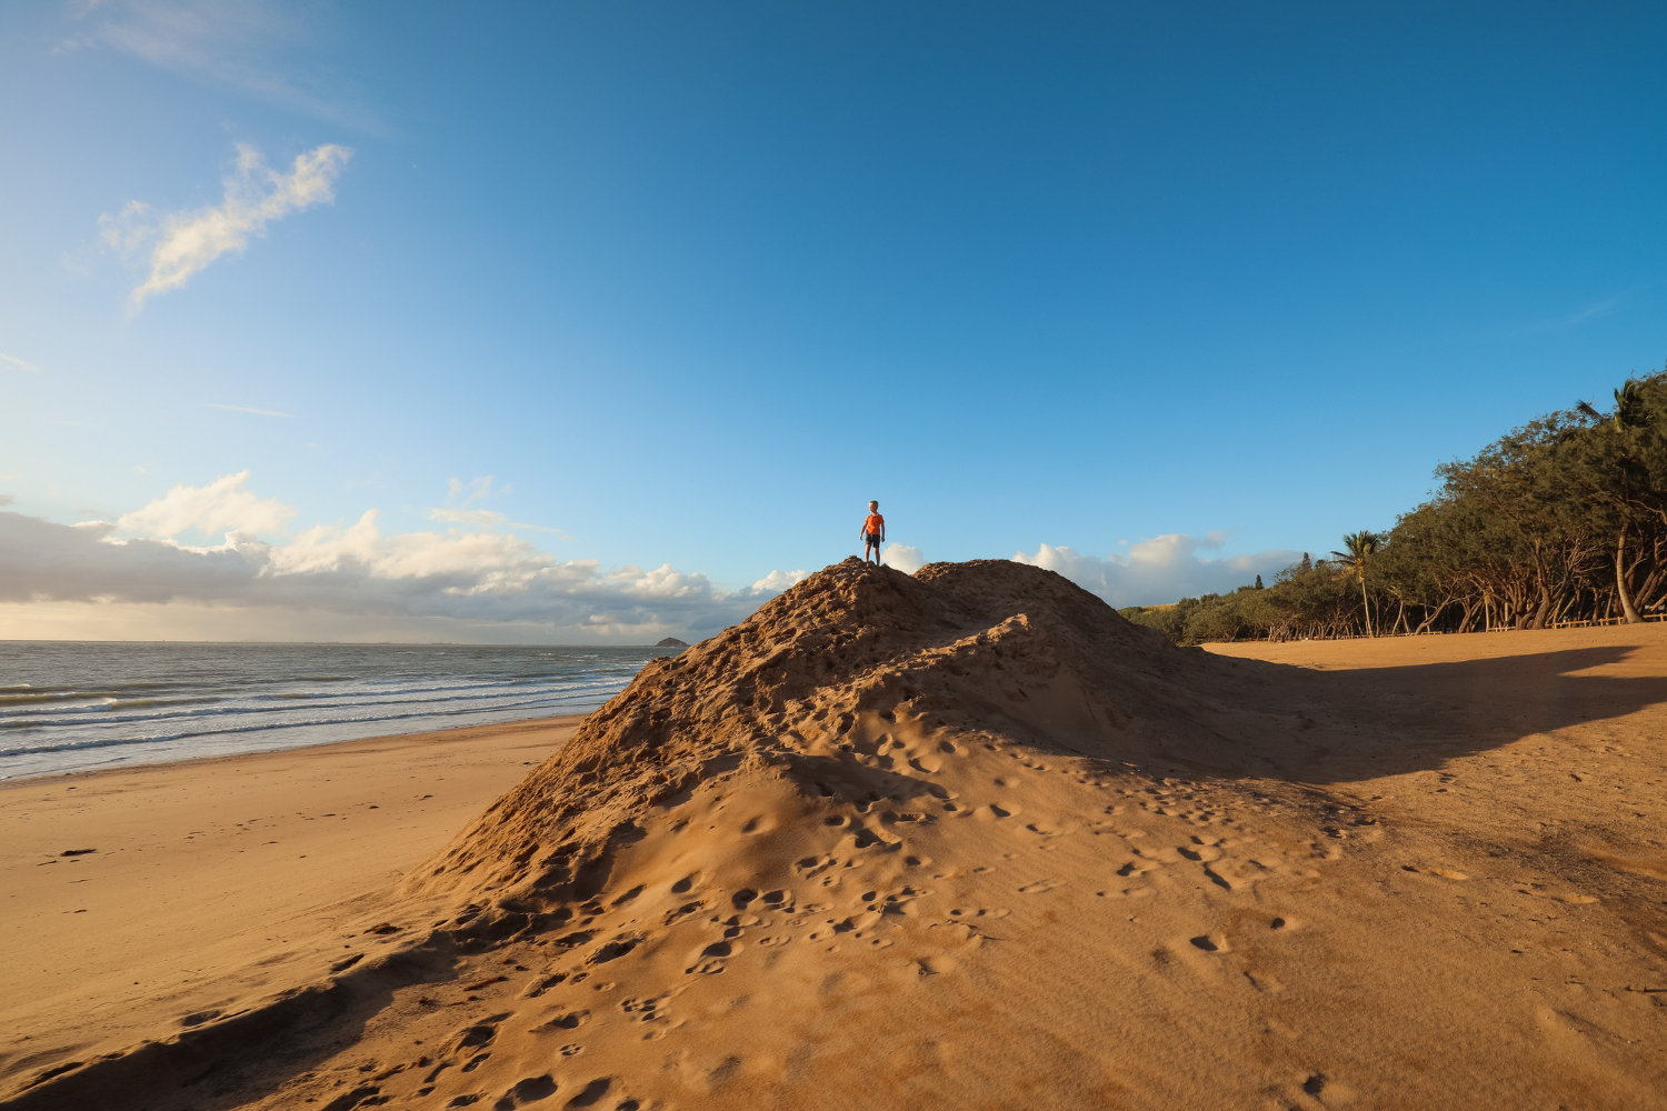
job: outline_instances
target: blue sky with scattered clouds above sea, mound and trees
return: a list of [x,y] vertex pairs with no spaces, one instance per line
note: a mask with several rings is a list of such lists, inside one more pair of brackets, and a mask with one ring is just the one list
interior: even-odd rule
[[0,638],[1114,605],[1667,360],[1659,3],[0,5]]

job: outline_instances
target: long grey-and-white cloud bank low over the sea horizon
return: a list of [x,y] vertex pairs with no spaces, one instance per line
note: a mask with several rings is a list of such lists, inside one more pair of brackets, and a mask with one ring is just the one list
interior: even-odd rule
[[[173,486],[115,523],[58,525],[0,511],[0,605],[78,603],[88,618],[135,605],[233,608],[257,638],[278,625],[305,635],[295,618],[307,611],[328,628],[363,618],[357,635],[365,640],[400,630],[402,640],[652,643],[733,625],[805,576],[772,571],[727,591],[670,565],[557,560],[505,530],[390,533],[373,508],[350,525],[280,536],[295,516],[293,506],[248,490],[248,471]],[[182,540],[192,533],[223,538]],[[283,621],[275,620],[280,611]]]

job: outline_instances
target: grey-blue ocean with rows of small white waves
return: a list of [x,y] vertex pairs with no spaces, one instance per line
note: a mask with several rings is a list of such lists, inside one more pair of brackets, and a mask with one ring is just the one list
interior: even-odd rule
[[582,713],[673,651],[0,641],[0,780]]

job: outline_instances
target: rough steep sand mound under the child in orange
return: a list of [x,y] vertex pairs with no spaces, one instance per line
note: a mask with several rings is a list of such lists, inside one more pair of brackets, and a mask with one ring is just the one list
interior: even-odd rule
[[648,816],[733,771],[855,803],[930,793],[922,773],[984,738],[1220,761],[1230,745],[1209,720],[1224,686],[1237,686],[1227,663],[1052,571],[980,560],[909,576],[850,558],[652,661],[415,888],[478,893],[455,928],[538,929],[608,883],[613,849]]

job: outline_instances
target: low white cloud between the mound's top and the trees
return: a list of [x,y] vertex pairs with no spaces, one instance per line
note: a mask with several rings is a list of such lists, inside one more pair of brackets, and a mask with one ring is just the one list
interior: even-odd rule
[[1272,580],[1275,571],[1300,558],[1297,551],[1205,555],[1225,548],[1227,540],[1224,531],[1205,536],[1169,533],[1105,558],[1042,545],[1034,556],[1020,551],[1014,561],[1059,571],[1114,606],[1149,606],[1247,586],[1257,575]]

